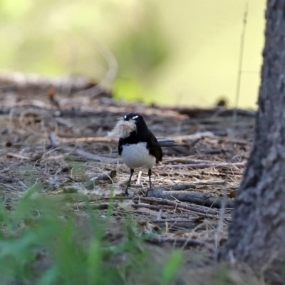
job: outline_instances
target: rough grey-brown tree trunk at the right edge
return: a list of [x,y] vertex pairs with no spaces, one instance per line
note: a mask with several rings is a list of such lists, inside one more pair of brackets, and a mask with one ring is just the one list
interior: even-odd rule
[[285,284],[285,1],[268,0],[255,140],[227,253]]

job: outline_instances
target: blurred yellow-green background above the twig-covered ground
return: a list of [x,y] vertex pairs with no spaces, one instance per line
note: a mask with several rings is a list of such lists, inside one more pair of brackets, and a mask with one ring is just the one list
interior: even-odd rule
[[[116,98],[234,105],[244,0],[0,0],[0,69],[84,74]],[[255,108],[265,0],[250,0],[239,107]],[[112,54],[118,74],[105,81]]]

